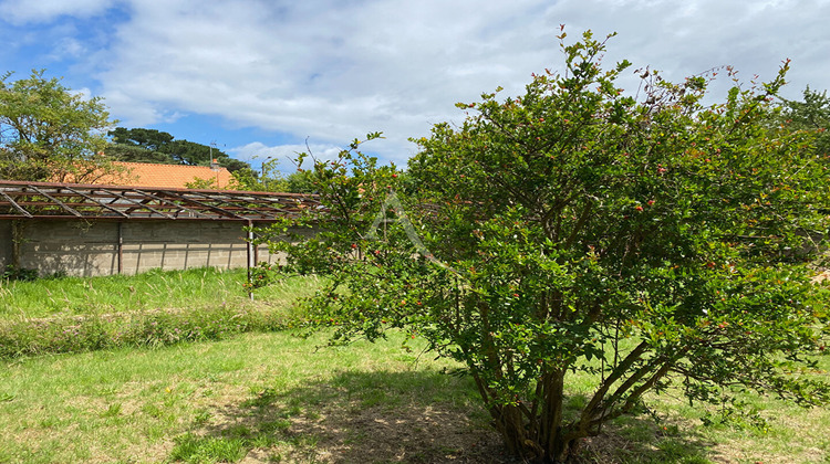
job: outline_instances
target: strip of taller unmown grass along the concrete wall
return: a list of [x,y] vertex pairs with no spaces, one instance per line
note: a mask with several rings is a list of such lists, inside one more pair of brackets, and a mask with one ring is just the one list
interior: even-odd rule
[[317,288],[314,278],[293,278],[255,291],[251,302],[242,289],[245,280],[245,271],[199,268],[6,282],[0,288],[0,358],[279,330],[295,319],[291,302]]

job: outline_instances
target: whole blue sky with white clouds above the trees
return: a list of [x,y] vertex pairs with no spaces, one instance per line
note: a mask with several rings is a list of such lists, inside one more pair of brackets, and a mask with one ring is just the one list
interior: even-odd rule
[[[0,0],[0,75],[45,70],[104,98],[118,126],[211,145],[257,168],[311,149],[405,166],[409,138],[460,124],[455,104],[561,70],[573,43],[612,32],[604,62],[671,81],[724,65],[744,85],[790,59],[784,96],[830,87],[830,0]],[[726,84],[713,87],[717,99]],[[723,96],[723,95],[720,95]]]

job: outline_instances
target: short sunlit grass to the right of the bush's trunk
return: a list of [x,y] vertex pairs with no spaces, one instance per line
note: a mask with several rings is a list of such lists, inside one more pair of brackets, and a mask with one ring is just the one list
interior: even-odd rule
[[[830,356],[801,373],[830,382]],[[598,379],[570,377],[569,402],[581,408]],[[741,409],[694,402],[678,388],[646,394],[637,414],[613,421],[590,439],[594,463],[830,463],[830,410],[805,409],[774,396],[725,388]]]

